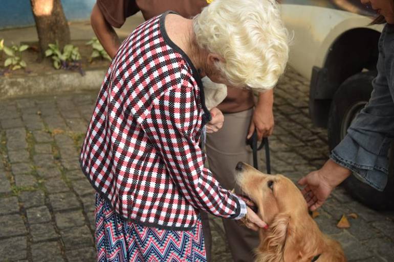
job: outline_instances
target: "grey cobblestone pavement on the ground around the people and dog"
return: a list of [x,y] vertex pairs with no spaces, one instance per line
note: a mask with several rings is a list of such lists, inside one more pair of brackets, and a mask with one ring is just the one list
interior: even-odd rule
[[[78,150],[97,92],[0,101],[0,260],[94,261],[94,190]],[[272,167],[294,181],[328,157],[326,130],[308,117],[308,82],[289,69],[275,90]],[[394,261],[394,213],[376,212],[338,188],[316,218],[350,261]],[[336,223],[355,212],[349,229]],[[220,219],[213,258],[231,261]]]

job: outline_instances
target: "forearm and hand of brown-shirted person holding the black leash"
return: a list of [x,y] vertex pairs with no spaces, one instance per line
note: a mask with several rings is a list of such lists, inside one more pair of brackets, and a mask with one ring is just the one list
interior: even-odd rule
[[274,104],[273,89],[258,94],[258,101],[253,111],[253,117],[249,126],[247,138],[249,139],[254,130],[257,130],[257,138],[270,136],[274,130]]

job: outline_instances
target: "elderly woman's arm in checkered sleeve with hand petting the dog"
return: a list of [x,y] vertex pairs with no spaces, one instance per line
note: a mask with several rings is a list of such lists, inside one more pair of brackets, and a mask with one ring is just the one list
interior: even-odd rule
[[[197,110],[194,88],[182,82],[164,91],[151,104],[150,114],[141,122],[142,128],[161,154],[174,184],[194,208],[223,218],[241,219],[246,212],[249,218],[256,218],[245,201],[221,187],[204,167],[205,154],[199,141],[193,138]],[[266,225],[259,219],[254,222],[260,227]]]

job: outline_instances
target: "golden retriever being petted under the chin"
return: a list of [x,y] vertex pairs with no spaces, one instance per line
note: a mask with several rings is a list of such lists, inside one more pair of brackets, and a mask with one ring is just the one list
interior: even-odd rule
[[320,231],[290,179],[263,174],[243,162],[235,169],[237,184],[268,224],[259,231],[256,262],[346,262],[340,244]]

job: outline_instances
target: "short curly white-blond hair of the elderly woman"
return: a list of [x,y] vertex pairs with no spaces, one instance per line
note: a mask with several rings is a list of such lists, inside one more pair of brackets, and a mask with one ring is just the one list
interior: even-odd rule
[[271,89],[289,57],[275,0],[214,0],[193,18],[196,42],[224,58],[216,66],[236,87]]

